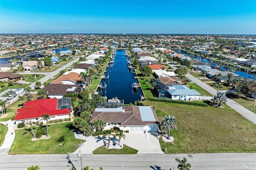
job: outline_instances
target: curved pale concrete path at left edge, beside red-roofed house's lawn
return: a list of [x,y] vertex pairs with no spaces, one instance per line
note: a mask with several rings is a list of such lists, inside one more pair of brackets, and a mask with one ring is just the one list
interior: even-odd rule
[[14,122],[15,121],[6,121],[6,122],[0,122],[4,125],[8,124],[8,131],[5,135],[4,138],[4,143],[2,144],[2,146],[0,147],[0,155],[1,154],[8,154],[10,151],[10,148],[12,146],[12,143],[14,141],[15,138],[15,131],[14,131]]

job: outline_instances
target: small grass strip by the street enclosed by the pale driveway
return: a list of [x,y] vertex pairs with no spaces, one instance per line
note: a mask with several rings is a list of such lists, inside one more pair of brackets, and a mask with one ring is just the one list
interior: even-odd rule
[[93,154],[137,154],[138,150],[124,144],[122,149],[107,149],[106,146],[100,146],[95,149]]

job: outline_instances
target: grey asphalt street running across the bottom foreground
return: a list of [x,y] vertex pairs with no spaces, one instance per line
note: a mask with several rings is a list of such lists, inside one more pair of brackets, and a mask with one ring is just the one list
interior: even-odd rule
[[[45,155],[0,155],[0,170],[26,170],[38,165],[40,170],[70,170],[72,164],[81,169],[80,158],[70,154]],[[175,158],[185,156],[192,170],[256,170],[256,154],[220,153],[220,154],[130,154],[130,155],[82,155],[83,167],[94,170],[173,170],[178,163]]]

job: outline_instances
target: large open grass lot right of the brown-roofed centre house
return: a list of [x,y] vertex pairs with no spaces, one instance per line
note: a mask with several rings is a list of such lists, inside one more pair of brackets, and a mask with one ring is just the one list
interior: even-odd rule
[[176,117],[177,131],[172,131],[174,144],[160,139],[167,153],[256,152],[256,125],[224,105],[200,107],[143,101],[154,106],[158,119],[164,115]]

